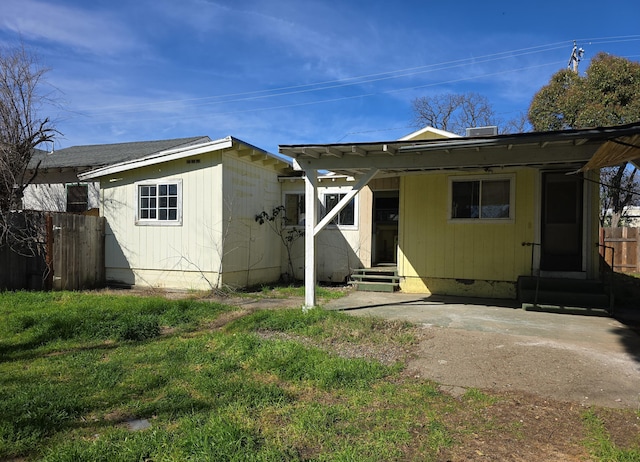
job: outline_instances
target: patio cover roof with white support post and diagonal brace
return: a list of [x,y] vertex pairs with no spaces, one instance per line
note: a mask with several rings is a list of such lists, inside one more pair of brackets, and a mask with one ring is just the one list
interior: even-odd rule
[[[305,173],[305,308],[316,305],[315,236],[371,179],[434,170],[567,166],[581,170],[640,162],[640,123],[616,127],[531,132],[428,141],[280,145]],[[319,224],[318,171],[359,180]]]

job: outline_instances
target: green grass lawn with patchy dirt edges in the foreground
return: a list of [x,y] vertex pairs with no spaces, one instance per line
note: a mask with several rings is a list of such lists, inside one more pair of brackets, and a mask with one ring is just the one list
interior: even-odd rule
[[[0,319],[0,460],[499,460],[479,441],[530,438],[507,398],[366,354],[410,350],[409,324],[68,292],[0,293]],[[637,411],[572,412],[570,454],[640,460],[608,426]]]

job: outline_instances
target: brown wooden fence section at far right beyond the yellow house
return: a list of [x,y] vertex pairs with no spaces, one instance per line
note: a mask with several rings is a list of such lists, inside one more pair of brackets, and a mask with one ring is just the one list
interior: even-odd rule
[[600,255],[614,271],[640,273],[640,228],[601,228]]

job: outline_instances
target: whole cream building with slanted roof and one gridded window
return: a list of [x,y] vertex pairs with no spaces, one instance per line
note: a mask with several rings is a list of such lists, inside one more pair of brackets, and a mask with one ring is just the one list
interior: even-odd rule
[[234,137],[78,175],[99,182],[109,284],[210,290],[277,281],[279,237],[256,214],[280,204],[282,158]]

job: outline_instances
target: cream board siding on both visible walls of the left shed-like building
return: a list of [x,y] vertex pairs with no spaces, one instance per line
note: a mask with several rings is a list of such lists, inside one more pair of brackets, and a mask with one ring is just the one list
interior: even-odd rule
[[[106,245],[111,252],[108,280],[211,289],[222,283],[278,279],[277,236],[255,222],[256,214],[279,203],[276,172],[229,153],[205,153],[198,159],[199,163],[179,159],[124,172],[113,183],[103,179],[103,210],[109,223]],[[142,180],[182,181],[181,225],[136,225],[136,182]],[[227,272],[231,282],[222,276]]]

